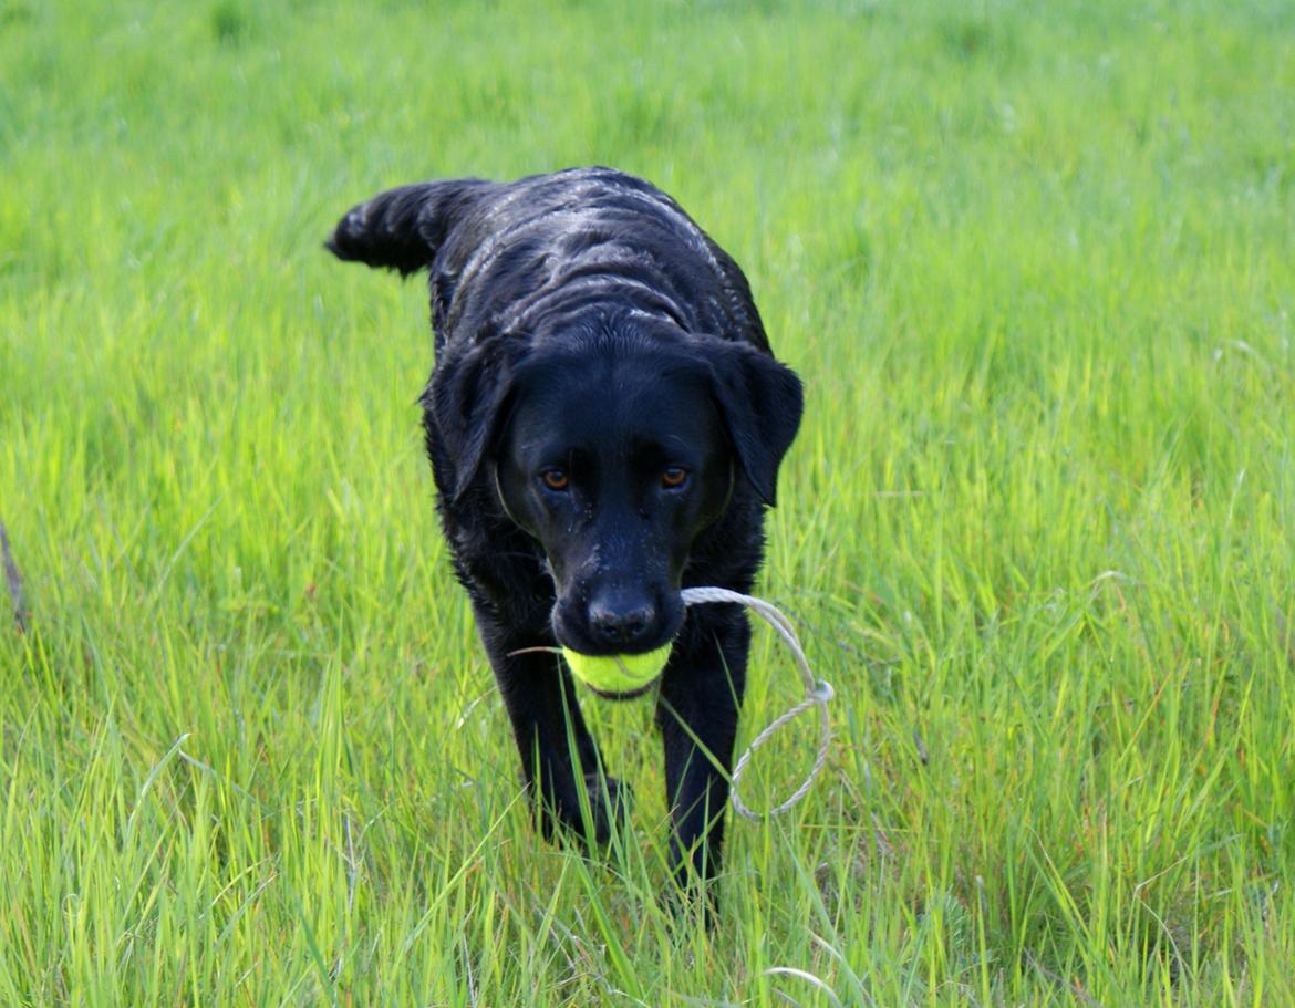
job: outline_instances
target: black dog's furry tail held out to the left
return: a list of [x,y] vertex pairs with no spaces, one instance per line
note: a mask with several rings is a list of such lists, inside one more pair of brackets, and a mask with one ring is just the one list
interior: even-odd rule
[[431,265],[449,229],[493,188],[451,179],[388,189],[347,212],[325,247],[338,259],[409,276]]

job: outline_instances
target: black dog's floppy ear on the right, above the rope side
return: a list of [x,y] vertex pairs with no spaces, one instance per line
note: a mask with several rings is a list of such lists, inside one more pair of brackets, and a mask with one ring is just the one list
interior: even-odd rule
[[712,386],[746,477],[771,507],[778,463],[800,427],[804,395],[795,371],[746,343],[723,343],[711,364]]

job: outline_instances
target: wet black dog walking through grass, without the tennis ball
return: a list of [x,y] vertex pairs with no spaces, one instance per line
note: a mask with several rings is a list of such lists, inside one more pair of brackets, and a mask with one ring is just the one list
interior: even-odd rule
[[438,507],[545,835],[556,818],[603,841],[622,802],[563,661],[514,652],[673,638],[657,701],[671,850],[680,882],[712,877],[750,626],[737,606],[685,619],[679,591],[751,590],[802,409],[742,270],[675,201],[609,168],[392,189],[328,247],[430,269]]

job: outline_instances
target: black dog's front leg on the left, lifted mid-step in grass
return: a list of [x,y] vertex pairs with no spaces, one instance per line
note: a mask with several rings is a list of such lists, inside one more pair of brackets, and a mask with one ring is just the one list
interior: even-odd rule
[[[624,814],[628,796],[602,772],[598,747],[580,716],[570,672],[557,655],[510,653],[535,646],[534,637],[522,643],[483,620],[480,612],[478,626],[513,722],[513,738],[541,832],[549,838],[558,824],[584,840],[607,842],[611,822]],[[591,816],[588,822],[583,806]]]

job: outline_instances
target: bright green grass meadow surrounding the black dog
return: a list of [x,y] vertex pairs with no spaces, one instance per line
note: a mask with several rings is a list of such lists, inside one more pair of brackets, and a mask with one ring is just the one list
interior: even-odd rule
[[[0,0],[0,1003],[1295,1004],[1292,137],[1285,0]],[[632,828],[532,832],[425,289],[321,250],[587,163],[808,392],[761,594],[835,744],[710,936],[649,704],[585,705]]]

